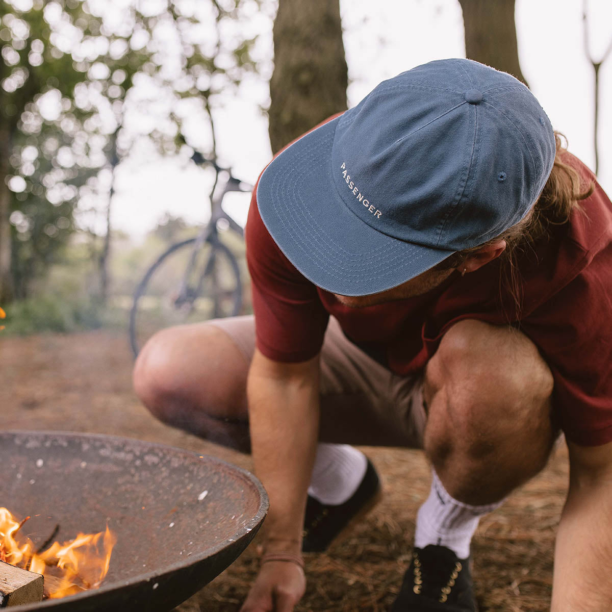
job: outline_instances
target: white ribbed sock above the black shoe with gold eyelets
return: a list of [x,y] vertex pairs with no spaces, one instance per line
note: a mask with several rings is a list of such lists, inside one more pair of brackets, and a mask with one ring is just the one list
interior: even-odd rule
[[425,548],[428,544],[446,546],[460,559],[469,556],[469,544],[482,515],[501,506],[503,501],[487,506],[469,506],[453,499],[438,474],[432,469],[431,491],[417,513],[414,545]]

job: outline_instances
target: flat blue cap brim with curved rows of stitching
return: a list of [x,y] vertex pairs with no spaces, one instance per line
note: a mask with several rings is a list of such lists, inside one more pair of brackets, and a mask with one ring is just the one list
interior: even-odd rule
[[331,293],[365,296],[405,283],[453,251],[400,241],[351,212],[331,176],[339,119],[271,162],[259,179],[257,203],[267,230],[301,274]]

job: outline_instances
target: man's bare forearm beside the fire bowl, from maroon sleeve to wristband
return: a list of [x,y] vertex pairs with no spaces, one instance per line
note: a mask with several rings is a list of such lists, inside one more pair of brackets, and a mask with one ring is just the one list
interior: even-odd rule
[[318,439],[318,359],[276,364],[256,352],[247,396],[255,472],[270,498],[266,547],[299,553]]

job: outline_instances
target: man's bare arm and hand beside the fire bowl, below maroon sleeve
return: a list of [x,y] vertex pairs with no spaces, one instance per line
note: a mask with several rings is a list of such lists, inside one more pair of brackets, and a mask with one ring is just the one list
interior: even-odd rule
[[[319,359],[282,364],[255,351],[247,381],[255,473],[270,498],[264,553],[301,555],[308,484],[319,430]],[[243,612],[291,612],[304,594],[304,572],[287,561],[261,571]]]

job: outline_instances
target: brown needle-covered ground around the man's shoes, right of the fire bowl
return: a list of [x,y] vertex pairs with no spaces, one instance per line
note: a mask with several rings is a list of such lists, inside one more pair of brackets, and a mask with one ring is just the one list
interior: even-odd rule
[[[385,497],[349,539],[327,554],[307,556],[308,590],[299,612],[384,612],[398,592],[416,510],[428,493],[428,469],[414,451],[364,450],[383,474]],[[540,476],[480,521],[472,556],[483,612],[550,609],[554,535],[566,482],[567,456],[559,447]],[[256,568],[250,547],[177,611],[238,610]]]

